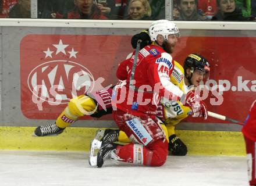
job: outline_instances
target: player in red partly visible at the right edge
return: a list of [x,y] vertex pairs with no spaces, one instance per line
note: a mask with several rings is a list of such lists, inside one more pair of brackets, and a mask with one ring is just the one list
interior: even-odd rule
[[256,100],[253,102],[253,105],[251,105],[251,109],[246,121],[244,122],[242,132],[244,134],[244,140],[246,141],[249,183],[250,185],[256,185]]

